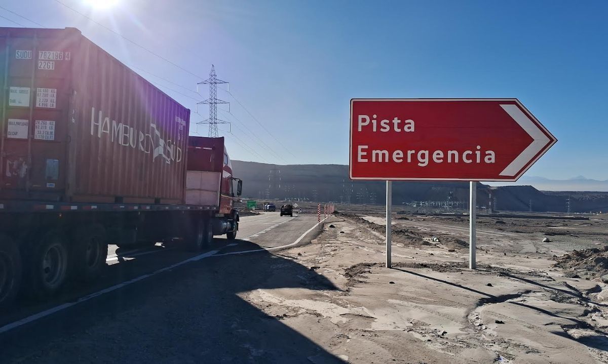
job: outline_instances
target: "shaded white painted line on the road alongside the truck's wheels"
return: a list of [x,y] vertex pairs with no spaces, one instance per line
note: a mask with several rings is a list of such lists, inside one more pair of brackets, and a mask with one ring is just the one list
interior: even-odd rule
[[40,318],[43,318],[43,317],[55,314],[55,312],[63,311],[64,309],[66,309],[68,307],[72,307],[72,306],[75,306],[75,305],[77,305],[79,303],[86,302],[86,301],[91,300],[92,298],[98,297],[100,295],[107,294],[107,293],[112,292],[114,290],[120,289],[122,287],[128,286],[128,285],[133,284],[133,283],[136,283],[138,281],[145,280],[146,278],[150,278],[151,276],[157,275],[159,273],[166,272],[167,270],[171,270],[171,269],[173,269],[175,267],[182,266],[182,265],[184,265],[186,263],[190,263],[192,261],[198,261],[200,259],[207,258],[208,256],[212,256],[212,255],[214,255],[217,252],[219,252],[219,250],[211,250],[210,252],[206,252],[206,253],[199,254],[197,256],[193,256],[190,259],[186,259],[185,261],[181,261],[179,263],[171,264],[171,266],[164,267],[164,268],[161,268],[159,270],[155,270],[152,273],[148,273],[148,274],[145,274],[145,275],[142,275],[142,276],[138,276],[136,278],[133,278],[132,280],[128,280],[128,281],[125,281],[123,283],[119,283],[119,284],[116,284],[114,286],[108,287],[106,289],[102,289],[102,290],[99,290],[99,291],[94,292],[92,294],[86,295],[84,297],[80,297],[80,298],[78,298],[78,300],[76,300],[74,302],[64,303],[64,304],[61,304],[60,306],[52,307],[50,309],[47,309],[46,311],[38,312],[37,314],[33,314],[33,315],[29,316],[29,317],[22,318],[21,320],[18,320],[18,321],[15,321],[13,323],[9,323],[7,325],[2,326],[0,328],[0,334],[2,334],[4,332],[7,332],[7,331],[10,331],[12,329],[18,328],[19,326],[26,325],[27,323],[30,323],[32,321],[36,321],[36,320],[38,320]]

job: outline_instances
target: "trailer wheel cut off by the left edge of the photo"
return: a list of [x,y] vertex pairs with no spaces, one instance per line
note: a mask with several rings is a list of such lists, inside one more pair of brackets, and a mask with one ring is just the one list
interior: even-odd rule
[[21,284],[21,255],[15,242],[0,234],[0,312],[15,300]]

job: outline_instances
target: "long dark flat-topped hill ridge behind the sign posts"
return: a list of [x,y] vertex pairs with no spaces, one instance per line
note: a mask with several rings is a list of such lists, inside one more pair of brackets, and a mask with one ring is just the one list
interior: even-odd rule
[[[385,203],[384,181],[351,181],[347,165],[274,165],[232,160],[236,177],[243,179],[243,196],[257,199],[308,199],[364,204]],[[393,204],[413,201],[468,201],[468,182],[393,182]],[[542,192],[530,185],[490,187],[479,184],[477,204],[496,199],[497,210],[565,212],[608,211],[608,193]]]

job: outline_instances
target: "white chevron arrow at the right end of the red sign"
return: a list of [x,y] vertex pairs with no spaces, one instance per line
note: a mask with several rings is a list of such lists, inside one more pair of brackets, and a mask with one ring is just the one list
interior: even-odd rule
[[532,143],[530,143],[527,148],[523,149],[523,152],[500,172],[500,176],[515,176],[517,172],[522,170],[526,163],[530,162],[530,160],[547,145],[550,139],[532,122],[532,120],[530,120],[528,115],[524,114],[521,109],[517,107],[517,105],[500,105],[500,107],[502,107],[533,139]]

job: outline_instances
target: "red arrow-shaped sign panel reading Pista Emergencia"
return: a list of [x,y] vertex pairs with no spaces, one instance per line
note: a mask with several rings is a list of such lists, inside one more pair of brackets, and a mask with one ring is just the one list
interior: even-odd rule
[[350,102],[350,178],[517,180],[557,139],[516,98]]

